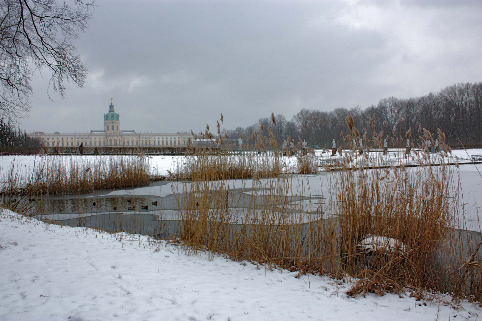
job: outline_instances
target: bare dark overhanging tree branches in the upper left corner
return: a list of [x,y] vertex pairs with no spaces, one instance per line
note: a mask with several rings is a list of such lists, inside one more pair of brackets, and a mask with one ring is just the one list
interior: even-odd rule
[[30,80],[47,68],[62,98],[64,82],[83,87],[87,69],[72,41],[87,28],[94,1],[0,0],[0,114],[23,117],[30,110]]

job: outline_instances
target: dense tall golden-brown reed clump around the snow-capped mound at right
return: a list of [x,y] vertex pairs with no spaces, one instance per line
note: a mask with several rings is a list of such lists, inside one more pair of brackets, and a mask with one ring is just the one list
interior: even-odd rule
[[[360,279],[350,293],[379,294],[387,286],[396,292],[406,285],[447,290],[438,255],[455,225],[451,169],[350,168],[336,174],[340,265]],[[404,244],[404,250],[383,244],[367,253],[360,243],[369,235]]]

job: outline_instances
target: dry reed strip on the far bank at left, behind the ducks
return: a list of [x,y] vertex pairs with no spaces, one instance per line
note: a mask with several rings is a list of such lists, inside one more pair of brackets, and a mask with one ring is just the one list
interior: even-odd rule
[[2,195],[91,193],[149,182],[148,161],[136,156],[78,157],[44,156],[33,167],[15,165],[1,173]]

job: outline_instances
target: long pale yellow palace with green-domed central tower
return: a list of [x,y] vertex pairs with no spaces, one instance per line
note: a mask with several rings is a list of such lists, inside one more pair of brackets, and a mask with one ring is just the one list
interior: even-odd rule
[[40,138],[41,144],[45,147],[186,147],[189,134],[142,134],[134,130],[120,129],[120,116],[114,111],[112,99],[110,100],[109,112],[104,114],[104,129],[91,130],[88,134],[61,134],[56,131],[53,134],[45,134],[36,131],[30,134],[32,137]]

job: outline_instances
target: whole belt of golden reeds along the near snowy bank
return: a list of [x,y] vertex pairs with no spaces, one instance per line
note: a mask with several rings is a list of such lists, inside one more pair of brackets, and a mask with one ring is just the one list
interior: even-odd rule
[[[305,194],[293,190],[294,177],[261,180],[269,187],[266,195],[260,198],[253,192],[249,201],[241,201],[229,182],[235,175],[208,181],[214,176],[203,174],[178,193],[181,239],[190,248],[237,260],[300,273],[349,275],[358,280],[348,292],[351,295],[409,288],[480,302],[482,241],[477,245],[470,233],[457,229],[464,226],[458,221],[462,216],[459,183],[454,180],[457,167],[445,165],[443,157],[440,164],[430,161],[433,154],[425,141],[433,140],[433,135],[427,130],[421,130],[418,139],[420,156],[427,162],[418,167],[405,168],[402,161],[398,166],[385,163],[383,156],[368,157],[368,150],[360,158],[356,148],[349,148],[351,141],[360,139],[358,130],[350,128],[345,141],[354,152],[340,157],[337,170],[330,172],[323,212],[293,210],[289,203]],[[374,131],[375,144],[380,138],[383,133]],[[438,139],[440,153],[447,155],[450,151],[440,131]],[[302,160],[298,164],[303,168]],[[210,166],[202,162],[197,166],[202,172],[206,165]]]

